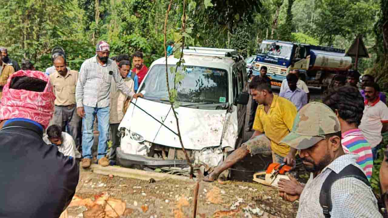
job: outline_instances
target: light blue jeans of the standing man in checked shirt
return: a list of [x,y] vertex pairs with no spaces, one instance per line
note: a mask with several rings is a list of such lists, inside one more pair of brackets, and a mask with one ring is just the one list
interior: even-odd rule
[[85,110],[85,116],[83,121],[83,134],[82,134],[82,156],[83,158],[92,159],[92,146],[94,143],[93,124],[94,117],[97,114],[98,130],[100,135],[98,137],[98,149],[97,159],[106,156],[106,147],[109,137],[109,111],[108,107],[88,107],[83,106]]

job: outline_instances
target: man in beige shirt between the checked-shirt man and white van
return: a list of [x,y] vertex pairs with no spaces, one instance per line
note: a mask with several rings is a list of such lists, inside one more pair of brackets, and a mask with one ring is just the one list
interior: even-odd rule
[[[131,92],[134,92],[134,81],[132,78],[128,78],[128,73],[131,69],[130,61],[120,61],[119,65],[120,76],[124,80],[124,84],[129,88]],[[120,145],[120,137],[117,136],[118,128],[121,120],[124,118],[124,105],[125,101],[130,98],[121,92],[116,87],[116,82],[112,78],[111,93],[110,93],[110,116],[109,116],[109,127],[112,133],[112,147],[109,152],[109,165],[116,164],[116,148]]]

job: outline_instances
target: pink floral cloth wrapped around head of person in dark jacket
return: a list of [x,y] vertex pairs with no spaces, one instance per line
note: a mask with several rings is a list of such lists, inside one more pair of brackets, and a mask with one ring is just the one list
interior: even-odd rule
[[[12,78],[29,76],[47,82],[43,92],[18,90],[9,88]],[[55,95],[52,92],[50,78],[40,71],[17,71],[12,74],[3,87],[0,103],[0,121],[12,118],[26,118],[40,123],[47,128],[54,113]]]

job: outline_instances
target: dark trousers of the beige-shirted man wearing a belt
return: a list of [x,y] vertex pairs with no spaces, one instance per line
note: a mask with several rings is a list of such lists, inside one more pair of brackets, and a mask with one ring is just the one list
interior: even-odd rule
[[81,152],[81,122],[82,119],[77,114],[77,107],[72,106],[56,106],[54,116],[50,121],[50,125],[58,125],[62,131],[66,131],[73,137],[76,149]]

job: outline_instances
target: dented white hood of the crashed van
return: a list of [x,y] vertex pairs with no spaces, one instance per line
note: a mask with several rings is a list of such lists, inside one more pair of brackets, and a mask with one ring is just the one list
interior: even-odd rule
[[[170,104],[140,98],[133,102],[177,133],[177,125]],[[232,113],[226,113],[226,110],[176,108],[184,147],[201,150],[204,147],[220,145],[223,125],[226,123],[222,147],[234,149],[238,129],[236,110],[234,108]],[[149,142],[181,148],[178,136],[144,111],[130,104],[119,128],[125,127],[134,131]],[[225,116],[227,116],[226,119]]]

